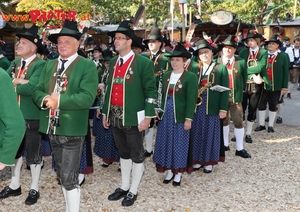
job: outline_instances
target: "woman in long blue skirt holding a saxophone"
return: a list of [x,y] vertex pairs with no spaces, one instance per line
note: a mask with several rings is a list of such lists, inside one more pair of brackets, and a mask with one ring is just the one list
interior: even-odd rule
[[225,161],[222,122],[226,117],[229,89],[212,90],[220,85],[229,87],[228,72],[223,64],[213,62],[213,51],[206,40],[200,40],[197,48],[199,56],[198,102],[191,129],[193,143],[193,167],[204,173],[211,173],[213,165]]

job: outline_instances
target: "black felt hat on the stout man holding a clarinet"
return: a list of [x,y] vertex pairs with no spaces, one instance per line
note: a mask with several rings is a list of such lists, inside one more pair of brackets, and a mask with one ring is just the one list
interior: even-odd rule
[[57,43],[57,38],[59,36],[70,36],[75,38],[76,40],[79,40],[81,37],[81,33],[78,30],[77,22],[66,20],[60,32],[49,35],[48,39],[52,43]]

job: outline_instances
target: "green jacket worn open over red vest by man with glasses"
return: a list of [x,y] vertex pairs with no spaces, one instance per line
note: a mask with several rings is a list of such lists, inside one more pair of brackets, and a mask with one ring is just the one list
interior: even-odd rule
[[[111,108],[112,82],[118,56],[110,60],[103,114],[108,121]],[[145,110],[145,117],[155,117],[155,103],[146,99],[157,99],[153,62],[144,56],[134,54],[123,78],[123,125],[138,126],[137,112]]]

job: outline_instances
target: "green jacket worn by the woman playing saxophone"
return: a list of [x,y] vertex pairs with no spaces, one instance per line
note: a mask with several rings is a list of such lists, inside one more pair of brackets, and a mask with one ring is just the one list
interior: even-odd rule
[[[203,69],[197,73],[198,86],[201,83]],[[228,71],[223,64],[215,63],[214,68],[208,73],[208,82],[212,82],[212,86],[221,85],[229,87]],[[206,107],[207,115],[218,115],[220,111],[227,112],[229,91],[218,92],[212,91],[210,88],[207,91],[207,103],[206,105],[201,104],[198,107]]]

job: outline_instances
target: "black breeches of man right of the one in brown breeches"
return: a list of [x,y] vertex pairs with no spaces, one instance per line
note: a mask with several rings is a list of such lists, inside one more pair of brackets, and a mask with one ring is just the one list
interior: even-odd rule
[[253,122],[256,119],[256,110],[261,98],[263,84],[247,83],[243,92],[243,114],[248,106],[247,120]]

